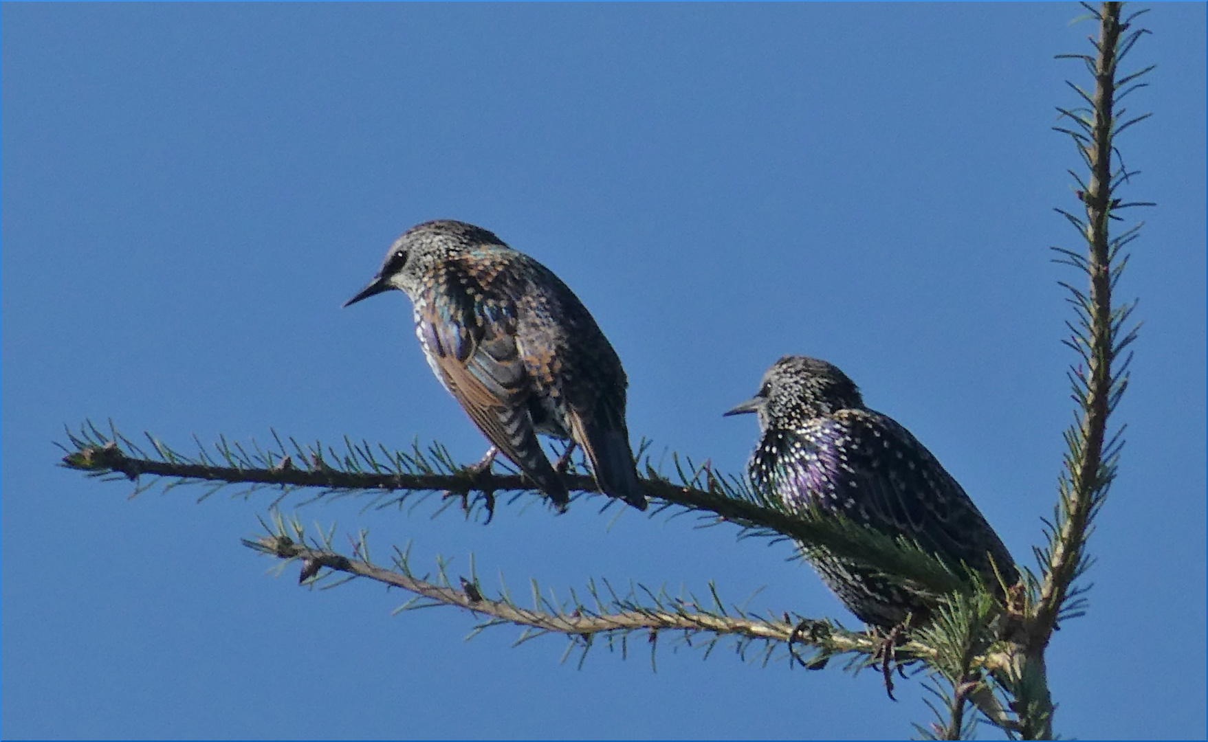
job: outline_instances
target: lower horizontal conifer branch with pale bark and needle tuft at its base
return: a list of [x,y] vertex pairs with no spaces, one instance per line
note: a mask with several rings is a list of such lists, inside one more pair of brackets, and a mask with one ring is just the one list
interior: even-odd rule
[[[486,629],[510,625],[523,629],[517,644],[540,636],[561,635],[570,641],[563,659],[577,648],[581,652],[580,664],[602,642],[610,649],[627,653],[628,639],[635,632],[645,639],[654,661],[660,637],[669,632],[675,637],[674,645],[702,649],[705,656],[719,642],[731,639],[742,659],[749,659],[753,644],[761,644],[763,649],[759,654],[765,665],[776,659],[788,659],[790,665],[820,670],[832,658],[850,655],[852,660],[846,666],[849,671],[882,664],[887,671],[892,667],[890,661],[884,660],[885,638],[877,632],[849,631],[826,619],[788,613],[761,618],[742,607],[727,606],[712,584],[707,600],[693,595],[684,600],[641,585],[631,588],[628,595],[621,596],[606,580],[603,589],[591,582],[586,590],[590,600],[580,600],[579,594],[571,590],[569,600],[559,602],[547,598],[534,582],[534,607],[524,608],[512,600],[506,588],[488,597],[478,582],[472,557],[469,577],[455,578],[451,576],[449,562],[439,559],[439,574],[434,580],[416,574],[411,567],[410,549],[395,549],[393,568],[376,565],[370,559],[364,531],[353,541],[352,555],[345,555],[332,545],[335,528],[318,538],[308,537],[298,520],[286,521],[277,513],[273,525],[266,524],[266,536],[244,539],[244,545],[281,560],[281,569],[289,563],[301,562],[300,583],[318,585],[333,574],[371,579],[414,595],[397,612],[439,606],[463,608],[481,619],[474,626],[471,637]],[[999,614],[997,598],[976,585],[972,595],[953,594],[942,598],[939,625],[906,637],[892,650],[893,665],[922,661],[945,677],[960,678],[959,683],[953,683],[958,708],[954,731],[945,730],[943,738],[959,738],[972,730],[974,718],[963,720],[960,715],[966,703],[972,703],[987,721],[1009,735],[1017,726],[993,695],[995,687],[982,678],[982,671],[993,672],[999,661],[992,626]],[[786,652],[777,656],[777,648]],[[928,730],[923,731],[928,734]]]

